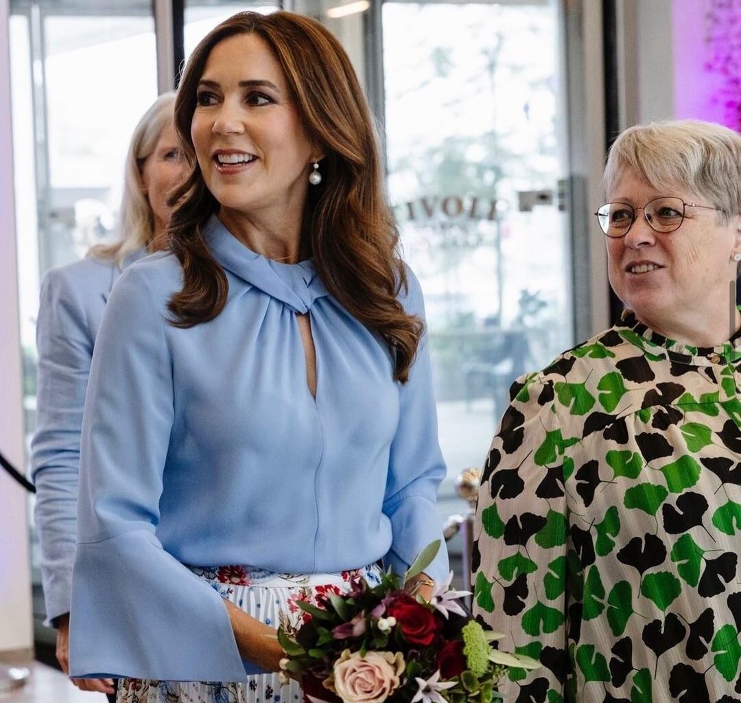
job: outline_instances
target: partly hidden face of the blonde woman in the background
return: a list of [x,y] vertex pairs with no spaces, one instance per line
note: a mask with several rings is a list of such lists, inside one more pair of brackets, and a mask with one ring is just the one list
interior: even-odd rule
[[165,230],[172,212],[167,194],[185,174],[187,162],[178,142],[175,128],[167,125],[159,135],[154,151],[144,159],[142,185],[154,214],[155,233]]

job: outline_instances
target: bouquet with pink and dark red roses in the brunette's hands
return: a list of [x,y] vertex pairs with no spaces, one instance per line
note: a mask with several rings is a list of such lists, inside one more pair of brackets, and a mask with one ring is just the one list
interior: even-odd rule
[[468,592],[451,590],[452,572],[430,601],[404,590],[439,546],[423,549],[403,578],[389,570],[374,587],[353,579],[319,607],[299,601],[309,617],[298,629],[278,630],[282,678],[300,676],[312,703],[491,703],[501,698],[496,683],[508,667],[538,667],[491,647],[500,636],[473,619]]

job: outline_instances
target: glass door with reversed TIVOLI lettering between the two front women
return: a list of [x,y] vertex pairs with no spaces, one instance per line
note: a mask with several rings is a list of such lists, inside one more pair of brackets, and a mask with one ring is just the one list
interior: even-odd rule
[[425,291],[441,519],[520,374],[572,343],[556,0],[382,4],[388,177]]

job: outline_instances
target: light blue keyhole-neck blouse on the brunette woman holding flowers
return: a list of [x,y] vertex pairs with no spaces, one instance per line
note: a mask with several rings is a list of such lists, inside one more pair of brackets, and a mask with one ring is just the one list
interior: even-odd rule
[[[213,217],[222,313],[179,329],[171,254],[124,272],[96,342],[82,432],[71,676],[243,681],[219,594],[183,564],[397,572],[442,537],[430,357],[393,381],[385,344],[310,261],[253,253]],[[409,272],[405,308],[423,315]],[[296,314],[310,314],[316,399]],[[448,571],[445,549],[428,568]]]

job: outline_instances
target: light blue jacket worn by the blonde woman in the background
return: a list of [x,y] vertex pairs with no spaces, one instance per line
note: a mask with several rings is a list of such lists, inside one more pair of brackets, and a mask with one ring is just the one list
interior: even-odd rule
[[31,470],[47,624],[70,612],[80,429],[93,346],[113,283],[144,254],[139,249],[123,266],[91,258],[76,261],[51,269],[41,284]]

